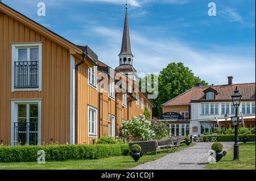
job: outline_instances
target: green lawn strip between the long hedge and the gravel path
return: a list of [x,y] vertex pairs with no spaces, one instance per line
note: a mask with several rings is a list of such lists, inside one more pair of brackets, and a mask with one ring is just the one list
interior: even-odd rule
[[[191,144],[189,146],[193,146]],[[181,148],[189,146],[182,144]],[[65,162],[46,162],[46,164],[33,163],[0,163],[0,170],[125,170],[131,169],[142,163],[154,161],[155,159],[170,154],[161,152],[158,154],[146,154],[141,157],[139,162],[134,162],[130,156],[109,157],[104,159],[65,161]]]

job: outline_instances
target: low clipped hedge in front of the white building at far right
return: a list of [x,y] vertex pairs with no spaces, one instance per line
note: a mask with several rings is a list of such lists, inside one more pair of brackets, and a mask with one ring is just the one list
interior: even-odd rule
[[[213,135],[203,136],[204,141],[210,140]],[[234,134],[218,134],[217,141],[234,141]],[[242,134],[239,135],[239,141],[242,141]],[[247,134],[247,141],[255,141],[255,134]]]

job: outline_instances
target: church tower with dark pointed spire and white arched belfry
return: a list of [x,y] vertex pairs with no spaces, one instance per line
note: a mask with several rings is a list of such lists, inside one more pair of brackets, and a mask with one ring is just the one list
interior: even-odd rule
[[120,73],[126,74],[128,77],[136,80],[138,78],[137,71],[133,67],[133,53],[131,53],[131,41],[129,31],[129,20],[127,14],[125,14],[125,26],[123,27],[123,40],[121,52],[119,53],[119,66],[115,69]]

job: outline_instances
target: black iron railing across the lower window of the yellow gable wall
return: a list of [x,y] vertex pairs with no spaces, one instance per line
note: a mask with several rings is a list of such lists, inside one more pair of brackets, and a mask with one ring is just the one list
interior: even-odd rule
[[14,123],[14,145],[37,145],[38,123]]

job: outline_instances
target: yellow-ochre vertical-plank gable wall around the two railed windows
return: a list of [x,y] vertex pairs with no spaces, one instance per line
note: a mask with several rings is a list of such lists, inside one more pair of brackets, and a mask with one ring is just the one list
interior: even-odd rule
[[[42,41],[42,91],[11,92],[11,43]],[[0,140],[11,144],[11,99],[42,99],[42,144],[69,142],[69,50],[0,15]]]

